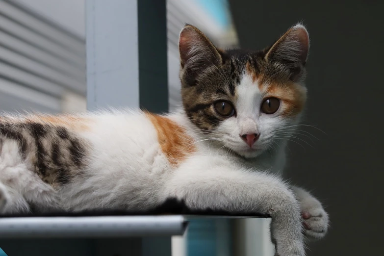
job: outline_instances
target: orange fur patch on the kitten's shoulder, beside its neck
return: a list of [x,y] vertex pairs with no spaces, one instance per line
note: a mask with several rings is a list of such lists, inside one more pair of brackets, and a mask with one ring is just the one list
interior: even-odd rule
[[172,166],[178,166],[188,155],[196,152],[193,139],[185,129],[168,117],[146,113],[157,132],[161,151]]

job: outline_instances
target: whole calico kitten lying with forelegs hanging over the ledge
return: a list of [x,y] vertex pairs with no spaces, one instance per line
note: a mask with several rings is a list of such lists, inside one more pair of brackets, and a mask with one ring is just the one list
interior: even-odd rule
[[304,256],[304,234],[324,237],[328,214],[277,173],[306,102],[308,50],[302,25],[262,51],[218,49],[185,25],[179,111],[1,116],[0,212],[145,210],[174,198],[270,214],[277,254]]

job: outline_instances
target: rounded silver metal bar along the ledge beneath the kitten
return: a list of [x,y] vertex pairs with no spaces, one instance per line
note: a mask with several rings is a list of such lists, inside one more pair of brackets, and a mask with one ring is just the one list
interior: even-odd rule
[[107,238],[182,235],[182,215],[6,217],[0,218],[1,238]]

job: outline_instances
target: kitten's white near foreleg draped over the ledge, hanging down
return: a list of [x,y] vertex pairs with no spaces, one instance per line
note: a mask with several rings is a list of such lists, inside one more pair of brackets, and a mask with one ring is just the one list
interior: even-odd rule
[[278,255],[305,255],[299,203],[275,176],[218,157],[194,157],[174,171],[162,192],[162,200],[177,198],[194,209],[269,213]]

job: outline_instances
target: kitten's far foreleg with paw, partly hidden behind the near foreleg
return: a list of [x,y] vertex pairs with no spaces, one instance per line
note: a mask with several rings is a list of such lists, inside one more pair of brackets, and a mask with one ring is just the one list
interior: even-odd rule
[[293,191],[300,202],[307,237],[315,240],[323,238],[329,226],[327,212],[321,203],[306,190],[293,187]]

